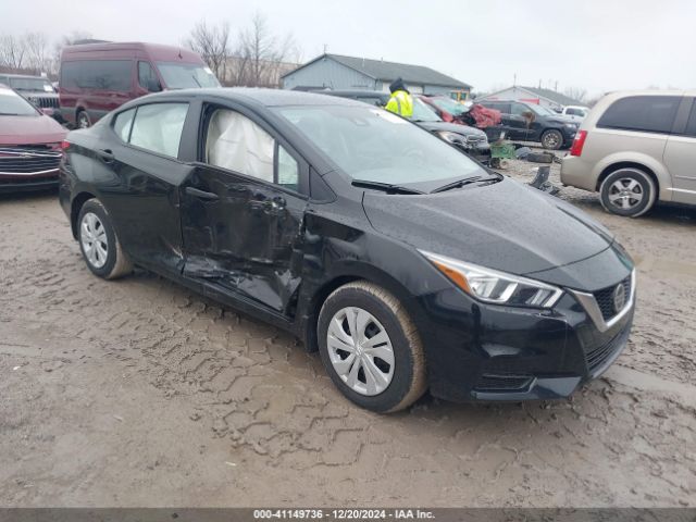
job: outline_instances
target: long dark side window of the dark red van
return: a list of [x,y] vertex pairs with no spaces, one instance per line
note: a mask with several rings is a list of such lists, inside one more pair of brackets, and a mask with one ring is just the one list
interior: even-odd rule
[[61,87],[127,92],[132,87],[130,60],[80,60],[61,64]]

